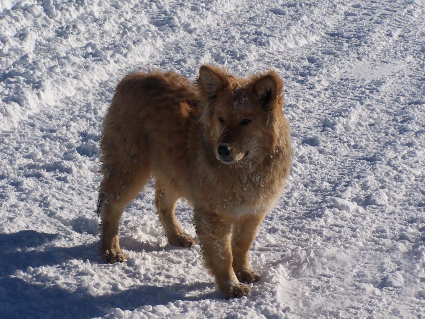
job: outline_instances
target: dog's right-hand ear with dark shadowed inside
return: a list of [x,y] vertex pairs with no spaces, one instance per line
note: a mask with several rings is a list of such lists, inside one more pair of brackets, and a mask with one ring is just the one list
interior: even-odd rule
[[283,81],[275,71],[255,76],[252,90],[266,110],[283,106]]

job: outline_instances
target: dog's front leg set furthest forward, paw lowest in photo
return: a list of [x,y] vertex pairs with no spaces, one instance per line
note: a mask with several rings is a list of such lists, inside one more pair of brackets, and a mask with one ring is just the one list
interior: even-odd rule
[[218,289],[227,299],[249,293],[251,289],[237,280],[232,267],[231,222],[202,208],[195,208],[194,219],[205,264],[214,275]]

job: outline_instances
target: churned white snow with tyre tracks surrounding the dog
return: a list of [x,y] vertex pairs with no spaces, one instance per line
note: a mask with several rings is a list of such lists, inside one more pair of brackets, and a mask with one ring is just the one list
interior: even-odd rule
[[[0,2],[0,317],[425,317],[425,1]],[[166,242],[151,184],[98,253],[98,139],[119,79],[201,63],[285,79],[293,170],[224,300]],[[192,210],[177,216],[190,233]]]

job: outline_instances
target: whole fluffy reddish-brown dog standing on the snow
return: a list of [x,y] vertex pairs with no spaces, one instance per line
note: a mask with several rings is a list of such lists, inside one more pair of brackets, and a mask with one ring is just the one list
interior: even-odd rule
[[101,252],[125,261],[118,223],[147,180],[172,245],[191,246],[175,218],[177,199],[194,206],[206,266],[226,298],[258,280],[248,251],[291,166],[283,82],[274,71],[238,78],[203,65],[193,85],[173,73],[133,73],[117,86],[103,123],[98,211]]

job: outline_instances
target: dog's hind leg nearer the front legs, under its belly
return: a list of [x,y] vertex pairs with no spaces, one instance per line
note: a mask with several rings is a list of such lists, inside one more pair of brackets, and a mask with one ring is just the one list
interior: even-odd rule
[[158,209],[159,220],[165,229],[168,243],[174,246],[190,247],[195,243],[192,236],[185,233],[175,217],[175,206],[178,197],[165,190],[156,181],[155,205]]

